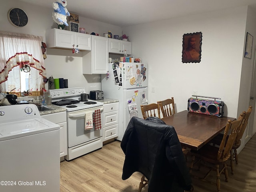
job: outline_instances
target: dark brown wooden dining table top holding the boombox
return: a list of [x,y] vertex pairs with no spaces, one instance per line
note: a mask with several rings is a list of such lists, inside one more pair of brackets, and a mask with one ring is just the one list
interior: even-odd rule
[[228,120],[234,121],[236,118],[216,117],[184,110],[161,120],[174,127],[182,146],[199,150],[224,131]]

